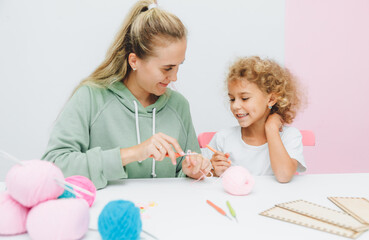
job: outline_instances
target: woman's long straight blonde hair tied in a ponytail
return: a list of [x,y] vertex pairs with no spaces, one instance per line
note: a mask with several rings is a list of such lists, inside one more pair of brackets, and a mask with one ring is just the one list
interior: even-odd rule
[[151,4],[156,1],[140,0],[132,7],[105,60],[82,80],[76,90],[82,85],[108,87],[124,80],[132,71],[128,64],[130,53],[145,59],[155,55],[155,46],[165,43],[163,40],[175,41],[187,36],[187,30],[177,16],[158,7],[149,9]]

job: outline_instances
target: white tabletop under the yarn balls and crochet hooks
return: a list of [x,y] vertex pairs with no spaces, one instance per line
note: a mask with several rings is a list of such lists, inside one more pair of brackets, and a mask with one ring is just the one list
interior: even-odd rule
[[[124,199],[143,205],[154,202],[144,212],[143,229],[160,240],[172,239],[347,239],[259,215],[275,204],[303,199],[340,210],[327,197],[365,197],[369,199],[369,173],[319,174],[295,176],[292,182],[278,183],[272,176],[255,177],[253,191],[247,196],[226,193],[217,178],[193,183],[191,179],[129,179],[111,182],[98,191],[91,208],[90,227],[97,226],[101,209],[111,200]],[[0,183],[0,191],[5,184]],[[223,217],[206,200],[228,214],[229,200],[238,223]],[[151,239],[141,235],[145,239]],[[368,239],[369,233],[358,239]],[[0,237],[0,239],[5,239]],[[27,234],[7,239],[29,239]],[[89,230],[84,239],[101,239]]]

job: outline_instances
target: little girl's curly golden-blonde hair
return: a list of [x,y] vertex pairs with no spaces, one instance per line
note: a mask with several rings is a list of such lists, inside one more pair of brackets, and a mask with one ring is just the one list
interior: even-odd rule
[[301,105],[297,81],[288,69],[273,60],[257,56],[238,59],[229,69],[226,84],[234,80],[255,83],[266,94],[277,98],[270,114],[279,114],[287,124],[292,123]]

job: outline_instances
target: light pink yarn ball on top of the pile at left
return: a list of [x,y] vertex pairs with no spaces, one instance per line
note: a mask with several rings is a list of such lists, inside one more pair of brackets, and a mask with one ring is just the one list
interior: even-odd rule
[[22,161],[13,166],[6,175],[6,186],[14,200],[25,207],[56,199],[64,189],[55,178],[64,180],[61,170],[53,163],[41,160]]

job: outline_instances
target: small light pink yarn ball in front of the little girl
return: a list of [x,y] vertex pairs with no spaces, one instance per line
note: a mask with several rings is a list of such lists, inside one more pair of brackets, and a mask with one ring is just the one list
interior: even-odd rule
[[223,173],[222,183],[226,192],[232,195],[247,195],[251,192],[255,180],[246,168],[232,166]]

